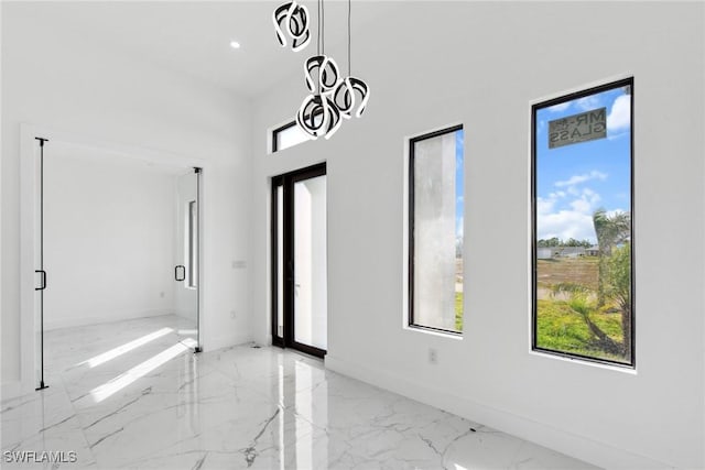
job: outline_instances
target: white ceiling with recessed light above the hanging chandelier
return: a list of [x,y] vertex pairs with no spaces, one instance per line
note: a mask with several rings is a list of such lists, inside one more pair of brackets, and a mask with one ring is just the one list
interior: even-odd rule
[[[25,14],[57,34],[78,35],[106,52],[120,51],[175,73],[236,91],[258,96],[282,78],[302,70],[316,51],[316,2],[311,12],[313,40],[299,53],[279,46],[272,22],[281,1],[229,2],[28,2]],[[326,47],[345,44],[347,1],[327,0]],[[370,21],[400,8],[393,1],[352,1],[354,37]],[[242,47],[234,50],[230,41]]]

